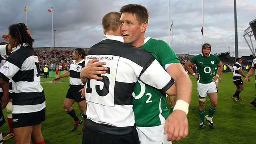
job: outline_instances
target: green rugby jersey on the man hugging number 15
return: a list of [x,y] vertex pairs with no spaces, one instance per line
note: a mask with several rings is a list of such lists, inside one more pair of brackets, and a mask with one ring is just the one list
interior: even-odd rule
[[[165,70],[169,66],[168,64],[180,63],[178,57],[166,42],[148,37],[144,40],[144,43],[140,48],[148,50]],[[133,110],[136,126],[151,127],[164,124],[169,115],[166,108],[165,93],[138,81],[134,87],[134,94]]]

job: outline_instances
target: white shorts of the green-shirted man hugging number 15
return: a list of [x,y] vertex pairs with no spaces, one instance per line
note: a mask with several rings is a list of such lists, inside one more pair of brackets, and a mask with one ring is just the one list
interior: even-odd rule
[[167,141],[168,134],[164,134],[164,125],[152,127],[136,126],[140,144],[172,144],[171,141]]

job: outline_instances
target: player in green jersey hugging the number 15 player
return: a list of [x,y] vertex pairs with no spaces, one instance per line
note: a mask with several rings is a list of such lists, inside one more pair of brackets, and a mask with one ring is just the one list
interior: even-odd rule
[[[170,143],[162,137],[163,133],[168,133],[168,140],[172,141],[185,138],[188,135],[187,113],[192,91],[191,80],[166,42],[144,36],[149,18],[148,10],[144,6],[128,4],[123,6],[120,12],[122,13],[120,24],[124,42],[148,50],[172,76],[177,85],[176,106],[174,107],[174,112],[168,116],[168,113],[166,113],[168,109],[166,108],[165,94],[142,82],[137,82],[134,90],[134,95],[136,95],[134,108],[136,108],[136,103],[139,104],[137,105],[139,107],[134,110],[134,114],[136,126],[137,128],[140,127],[138,131],[140,131],[141,144]],[[96,76],[96,74],[106,73],[107,68],[98,67],[105,63],[94,64],[94,62],[98,62],[98,60],[90,60],[81,75],[101,80],[102,78]],[[140,106],[140,104],[143,105]],[[148,120],[144,122],[145,118]]]

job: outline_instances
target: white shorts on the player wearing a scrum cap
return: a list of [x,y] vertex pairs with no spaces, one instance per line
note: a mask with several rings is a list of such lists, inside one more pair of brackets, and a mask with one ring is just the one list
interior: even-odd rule
[[197,96],[198,97],[206,97],[208,93],[217,92],[215,82],[211,82],[209,84],[201,84],[197,82]]

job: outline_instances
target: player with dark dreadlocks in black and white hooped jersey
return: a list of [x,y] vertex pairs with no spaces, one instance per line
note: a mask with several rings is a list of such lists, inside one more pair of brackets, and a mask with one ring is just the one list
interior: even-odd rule
[[[0,85],[12,78],[12,128],[15,144],[44,144],[41,122],[45,120],[45,96],[40,85],[38,57],[33,50],[34,39],[23,23],[8,27],[12,48],[6,63],[0,68]],[[6,87],[2,87],[3,91]],[[8,88],[7,88],[8,91]]]

